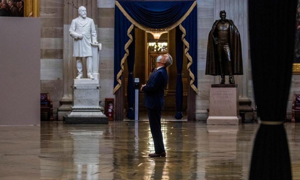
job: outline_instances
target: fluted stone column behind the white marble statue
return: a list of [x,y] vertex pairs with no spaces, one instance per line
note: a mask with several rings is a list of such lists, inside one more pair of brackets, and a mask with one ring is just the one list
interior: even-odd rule
[[[73,19],[78,17],[78,8],[87,8],[87,17],[94,20],[97,29],[97,0],[64,0],[63,9],[63,97],[58,108],[58,120],[63,120],[63,115],[69,114],[72,106],[72,84],[76,77],[76,59],[73,58],[73,38],[69,35]],[[85,60],[83,62],[85,63]],[[84,68],[85,69],[85,68]],[[83,71],[84,74],[86,74]]]

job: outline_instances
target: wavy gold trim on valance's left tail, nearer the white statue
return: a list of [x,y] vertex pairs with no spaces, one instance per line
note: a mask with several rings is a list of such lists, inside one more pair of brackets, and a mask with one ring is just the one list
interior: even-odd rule
[[117,81],[118,81],[118,84],[116,85],[115,88],[113,88],[113,93],[116,93],[116,91],[121,87],[122,85],[122,81],[120,79],[123,71],[124,71],[124,63],[125,63],[125,59],[127,58],[127,56],[129,55],[129,50],[128,50],[128,47],[129,45],[131,44],[131,42],[133,41],[133,37],[132,35],[130,34],[130,32],[133,30],[133,27],[134,25],[131,24],[131,26],[128,28],[127,30],[127,36],[129,37],[129,40],[128,42],[125,44],[125,54],[124,54],[124,57],[122,58],[121,60],[121,70],[119,71],[119,73],[117,74]]

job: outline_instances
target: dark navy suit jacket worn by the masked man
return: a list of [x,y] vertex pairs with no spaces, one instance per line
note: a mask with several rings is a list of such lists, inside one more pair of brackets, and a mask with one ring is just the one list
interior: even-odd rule
[[163,110],[164,90],[168,84],[168,73],[166,67],[159,68],[150,76],[146,86],[142,91],[145,92],[144,105],[147,108]]

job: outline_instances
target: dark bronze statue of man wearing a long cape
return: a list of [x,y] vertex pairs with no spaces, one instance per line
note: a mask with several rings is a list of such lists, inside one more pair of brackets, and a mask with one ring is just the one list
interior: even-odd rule
[[229,75],[229,83],[234,84],[233,75],[243,74],[240,34],[233,21],[226,19],[225,11],[220,12],[220,17],[208,35],[205,74],[221,75],[221,84]]

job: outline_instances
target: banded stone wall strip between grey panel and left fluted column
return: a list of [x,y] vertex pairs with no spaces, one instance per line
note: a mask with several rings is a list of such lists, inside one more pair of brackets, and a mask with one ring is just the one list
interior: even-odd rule
[[50,93],[54,119],[63,97],[63,0],[40,0],[41,93]]

